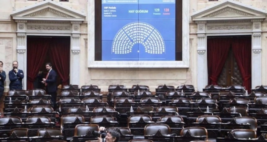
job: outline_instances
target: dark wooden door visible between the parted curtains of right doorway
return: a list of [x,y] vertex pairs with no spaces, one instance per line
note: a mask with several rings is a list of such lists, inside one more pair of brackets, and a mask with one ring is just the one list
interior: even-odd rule
[[217,84],[226,87],[233,84],[242,85],[242,83],[243,80],[239,71],[238,64],[234,57],[232,48],[230,48],[227,60],[224,64],[224,68],[222,69],[218,77]]

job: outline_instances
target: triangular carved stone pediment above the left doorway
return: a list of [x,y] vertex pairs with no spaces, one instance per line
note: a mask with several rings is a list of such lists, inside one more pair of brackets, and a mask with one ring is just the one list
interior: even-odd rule
[[46,0],[14,11],[11,16],[15,20],[51,20],[84,21],[85,15],[78,10]]

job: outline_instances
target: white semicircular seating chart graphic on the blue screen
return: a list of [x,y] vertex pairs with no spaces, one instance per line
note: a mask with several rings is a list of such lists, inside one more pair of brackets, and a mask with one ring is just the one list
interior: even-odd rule
[[121,28],[113,40],[112,52],[128,54],[132,52],[134,44],[142,44],[149,54],[165,52],[165,43],[160,32],[148,23],[129,23]]

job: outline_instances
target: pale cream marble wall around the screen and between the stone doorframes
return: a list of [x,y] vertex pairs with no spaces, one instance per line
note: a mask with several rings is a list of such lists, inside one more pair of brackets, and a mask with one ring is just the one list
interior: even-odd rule
[[[33,5],[37,1],[27,0],[1,0],[0,1],[0,60],[4,61],[4,70],[8,72],[12,69],[12,61],[17,59],[16,53],[16,23],[12,20],[10,14],[13,10]],[[59,0],[54,0],[59,2]],[[219,0],[222,1],[222,0]],[[266,0],[236,0],[265,10],[267,6]],[[193,12],[201,10],[216,2],[208,2],[208,0],[190,0],[189,1],[189,68],[88,68],[88,48],[93,48],[91,43],[94,39],[93,28],[88,28],[94,24],[93,0],[70,0],[70,2],[60,2],[64,6],[71,7],[75,10],[83,12],[87,15],[85,21],[80,26],[80,78],[79,85],[98,85],[107,91],[108,85],[126,84],[131,87],[134,84],[148,85],[152,91],[159,85],[167,84],[175,87],[180,84],[192,84],[197,88],[197,24],[190,17]],[[267,85],[266,71],[267,59],[267,20],[262,22],[262,84]],[[89,35],[89,36],[88,36]],[[4,55],[4,56],[2,56]],[[8,88],[9,80],[6,81]],[[198,88],[197,88],[198,89]],[[201,89],[200,89],[201,90]]]

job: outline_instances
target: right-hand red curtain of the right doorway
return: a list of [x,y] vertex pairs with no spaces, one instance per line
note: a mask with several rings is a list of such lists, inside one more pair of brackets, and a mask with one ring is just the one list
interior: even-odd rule
[[234,38],[233,54],[236,58],[243,84],[248,92],[251,91],[251,37]]

